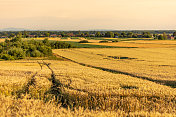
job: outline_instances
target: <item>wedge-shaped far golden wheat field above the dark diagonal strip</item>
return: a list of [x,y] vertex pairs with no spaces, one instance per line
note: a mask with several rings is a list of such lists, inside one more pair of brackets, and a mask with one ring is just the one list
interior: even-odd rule
[[[175,48],[65,49],[54,52],[87,65],[153,80],[175,80]],[[163,83],[162,81],[158,82]]]

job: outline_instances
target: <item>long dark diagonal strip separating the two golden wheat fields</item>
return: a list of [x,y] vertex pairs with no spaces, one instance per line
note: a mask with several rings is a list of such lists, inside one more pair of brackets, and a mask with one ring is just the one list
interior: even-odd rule
[[90,67],[90,68],[95,68],[95,69],[99,69],[99,70],[102,70],[102,71],[111,72],[111,73],[114,73],[114,74],[124,74],[124,75],[128,75],[128,76],[131,76],[131,77],[136,77],[136,78],[139,78],[139,79],[143,79],[143,80],[148,80],[148,81],[151,81],[151,82],[154,82],[154,83],[157,83],[157,84],[169,86],[171,88],[176,88],[176,81],[154,80],[154,79],[149,78],[149,77],[139,76],[139,75],[135,75],[135,74],[132,74],[132,73],[129,73],[129,72],[124,72],[124,71],[119,71],[119,70],[113,70],[113,69],[108,69],[108,68],[103,68],[103,67],[97,67],[97,66],[93,66],[93,65],[88,65],[88,64],[85,64],[85,63],[80,63],[80,62],[74,61],[72,59],[66,58],[66,57],[58,55],[58,54],[54,54],[54,55],[56,57],[62,58],[63,60],[71,61],[73,63],[79,64],[79,65],[82,65],[82,66],[86,66],[86,67]]

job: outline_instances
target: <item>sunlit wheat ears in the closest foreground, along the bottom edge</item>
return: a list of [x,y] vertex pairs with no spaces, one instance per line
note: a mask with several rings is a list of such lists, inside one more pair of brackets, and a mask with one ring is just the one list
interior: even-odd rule
[[90,111],[88,109],[75,109],[71,111],[56,106],[53,103],[44,103],[34,99],[13,99],[10,97],[0,96],[0,114],[2,117],[124,117],[124,116],[169,116],[174,117],[175,114],[157,113],[157,112],[130,112],[124,111]]

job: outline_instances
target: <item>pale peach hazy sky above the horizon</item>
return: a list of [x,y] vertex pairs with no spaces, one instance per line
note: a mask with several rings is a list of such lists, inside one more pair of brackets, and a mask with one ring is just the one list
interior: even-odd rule
[[175,30],[176,0],[0,0],[0,29]]

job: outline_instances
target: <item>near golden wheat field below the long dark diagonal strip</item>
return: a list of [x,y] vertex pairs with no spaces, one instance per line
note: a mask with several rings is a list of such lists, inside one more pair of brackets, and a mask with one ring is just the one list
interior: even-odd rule
[[70,61],[1,61],[0,74],[3,116],[175,114],[174,88]]

